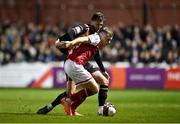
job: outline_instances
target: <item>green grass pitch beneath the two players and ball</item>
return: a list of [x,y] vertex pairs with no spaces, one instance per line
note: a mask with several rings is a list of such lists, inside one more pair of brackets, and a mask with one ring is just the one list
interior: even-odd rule
[[97,95],[79,107],[83,117],[68,117],[57,106],[47,115],[37,115],[39,107],[50,103],[58,89],[0,89],[0,122],[119,123],[180,122],[180,92],[164,90],[111,90],[108,101],[116,106],[113,117],[97,116]]

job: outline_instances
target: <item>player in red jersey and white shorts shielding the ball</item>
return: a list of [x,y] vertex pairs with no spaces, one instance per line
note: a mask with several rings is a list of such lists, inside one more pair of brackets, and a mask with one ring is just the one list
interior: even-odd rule
[[[67,75],[75,82],[77,91],[72,94],[70,101],[66,98],[61,100],[67,115],[73,115],[76,108],[88,96],[99,92],[98,83],[92,75],[84,68],[84,65],[98,52],[99,48],[110,43],[113,33],[104,27],[98,34],[79,37],[71,42],[59,43],[59,48],[70,48],[64,70]],[[103,110],[99,111],[102,114]]]

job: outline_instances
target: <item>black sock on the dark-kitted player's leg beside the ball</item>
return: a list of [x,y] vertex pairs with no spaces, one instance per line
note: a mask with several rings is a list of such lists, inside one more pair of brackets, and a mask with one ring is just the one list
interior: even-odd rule
[[98,94],[99,106],[103,106],[107,99],[108,86],[100,85],[100,90]]

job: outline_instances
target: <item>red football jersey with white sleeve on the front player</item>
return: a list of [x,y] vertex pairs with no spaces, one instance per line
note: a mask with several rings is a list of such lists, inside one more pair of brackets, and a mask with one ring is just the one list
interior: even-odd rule
[[99,50],[100,38],[97,34],[89,35],[90,44],[81,44],[74,48],[68,55],[68,59],[80,65],[85,65]]

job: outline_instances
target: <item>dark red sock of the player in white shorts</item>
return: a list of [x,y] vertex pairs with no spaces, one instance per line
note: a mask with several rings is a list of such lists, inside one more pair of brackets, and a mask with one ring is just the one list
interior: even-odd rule
[[72,100],[72,109],[75,110],[81,103],[84,102],[84,100],[88,97],[86,89],[83,89],[76,94],[73,94],[71,96]]

